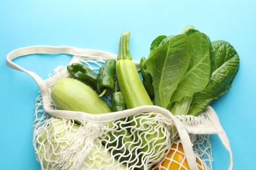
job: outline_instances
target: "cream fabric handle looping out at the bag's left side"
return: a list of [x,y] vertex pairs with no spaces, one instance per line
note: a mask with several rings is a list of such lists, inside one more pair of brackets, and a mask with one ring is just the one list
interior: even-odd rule
[[103,59],[116,58],[115,54],[111,54],[108,52],[91,50],[91,49],[80,49],[80,48],[75,48],[73,46],[29,46],[25,48],[18,48],[17,50],[13,50],[9,54],[7,54],[7,58],[6,58],[7,65],[12,69],[22,71],[32,76],[32,78],[37,83],[37,86],[39,86],[42,99],[43,99],[42,100],[43,109],[45,111],[51,110],[51,95],[49,93],[48,86],[50,84],[54,84],[54,82],[56,82],[59,78],[68,76],[69,73],[66,69],[63,69],[63,71],[61,71],[57,75],[51,78],[47,78],[46,80],[43,80],[35,72],[24,69],[23,67],[20,67],[20,65],[12,61],[14,58],[19,58],[19,57],[31,55],[31,54],[70,54],[70,55],[73,55],[73,58],[71,59],[69,64],[78,62],[79,59],[81,59],[81,56],[85,56],[89,58],[103,58]]

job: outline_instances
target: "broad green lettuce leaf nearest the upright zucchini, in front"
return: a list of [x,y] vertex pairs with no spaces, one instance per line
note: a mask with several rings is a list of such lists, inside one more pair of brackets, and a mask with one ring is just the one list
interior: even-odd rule
[[155,105],[165,109],[169,106],[190,64],[190,43],[188,36],[181,34],[150,51],[146,67],[153,78]]

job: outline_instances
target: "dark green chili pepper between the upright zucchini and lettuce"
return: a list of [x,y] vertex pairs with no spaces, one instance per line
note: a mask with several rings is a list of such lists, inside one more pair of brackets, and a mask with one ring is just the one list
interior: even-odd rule
[[154,97],[153,79],[150,73],[148,73],[148,69],[146,68],[146,58],[144,57],[140,59],[140,71],[146,92],[148,92],[148,95],[150,95],[150,97]]

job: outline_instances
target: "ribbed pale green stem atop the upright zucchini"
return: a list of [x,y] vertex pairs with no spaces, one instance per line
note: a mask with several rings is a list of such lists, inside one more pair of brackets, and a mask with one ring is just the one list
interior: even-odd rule
[[120,42],[119,42],[119,52],[117,56],[117,60],[119,59],[132,59],[130,50],[129,50],[129,37],[130,31],[125,31],[121,34]]

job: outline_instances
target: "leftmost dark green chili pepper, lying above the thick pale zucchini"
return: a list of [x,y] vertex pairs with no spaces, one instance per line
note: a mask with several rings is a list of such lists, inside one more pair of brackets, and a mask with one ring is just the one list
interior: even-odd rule
[[72,65],[68,65],[67,69],[75,78],[96,88],[97,73],[89,69],[86,65],[82,63],[72,63]]

